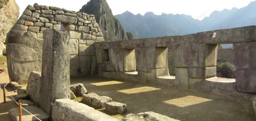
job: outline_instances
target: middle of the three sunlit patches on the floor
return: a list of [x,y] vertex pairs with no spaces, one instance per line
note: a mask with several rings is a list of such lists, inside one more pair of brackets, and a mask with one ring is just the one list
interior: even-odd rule
[[119,90],[119,92],[127,93],[127,94],[133,94],[133,93],[140,93],[140,92],[146,92],[146,91],[156,91],[161,90],[159,88],[153,88],[153,87],[140,87],[140,88],[132,88],[127,90]]

